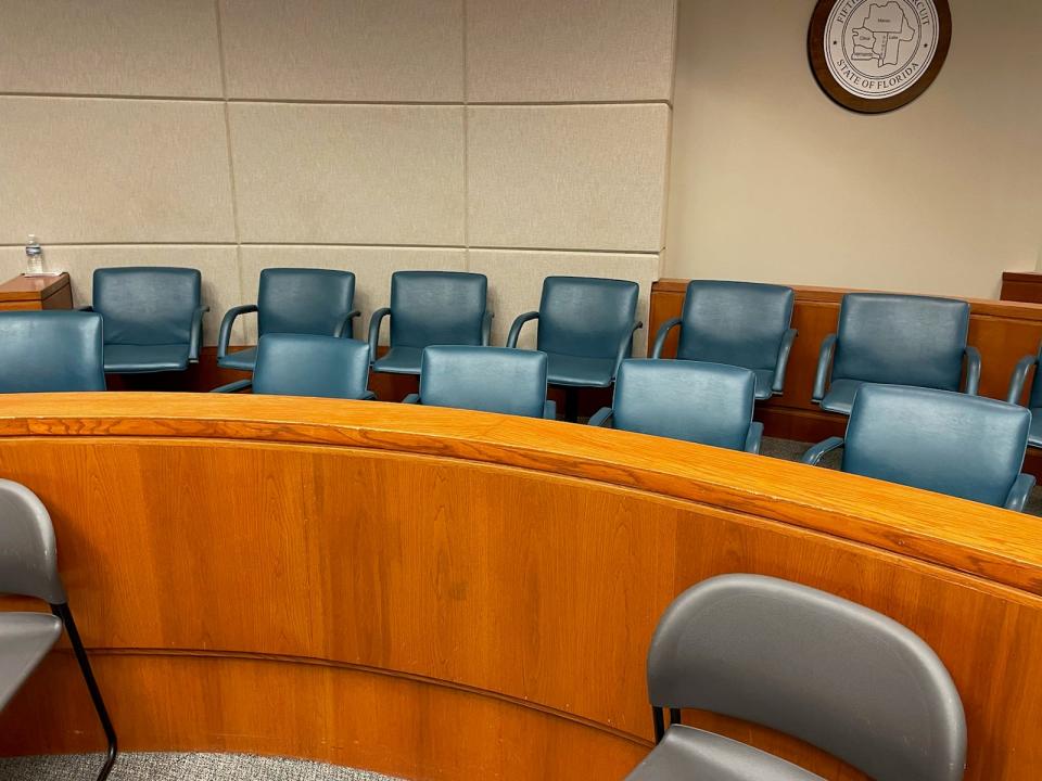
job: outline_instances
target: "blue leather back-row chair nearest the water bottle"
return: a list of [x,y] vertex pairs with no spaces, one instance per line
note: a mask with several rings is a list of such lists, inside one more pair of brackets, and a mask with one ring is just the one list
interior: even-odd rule
[[185,371],[203,341],[202,274],[195,269],[94,270],[93,309],[104,318],[105,371]]

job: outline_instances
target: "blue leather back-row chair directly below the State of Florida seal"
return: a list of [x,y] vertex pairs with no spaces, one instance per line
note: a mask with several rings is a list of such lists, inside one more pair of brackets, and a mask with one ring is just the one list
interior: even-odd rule
[[839,334],[822,342],[812,398],[823,410],[850,414],[864,383],[958,390],[964,358],[965,392],[975,396],[980,354],[966,345],[968,331],[966,302],[848,293],[839,308]]

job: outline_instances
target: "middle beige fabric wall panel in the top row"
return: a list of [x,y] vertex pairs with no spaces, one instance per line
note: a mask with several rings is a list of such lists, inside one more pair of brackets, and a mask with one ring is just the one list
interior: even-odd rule
[[229,98],[463,99],[462,0],[220,0]]

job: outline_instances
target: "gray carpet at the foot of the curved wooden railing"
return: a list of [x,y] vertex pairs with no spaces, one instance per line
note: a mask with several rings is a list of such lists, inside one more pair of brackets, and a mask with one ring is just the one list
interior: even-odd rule
[[[92,781],[96,754],[0,759],[3,781]],[[120,754],[109,781],[395,781],[390,776],[247,754]]]

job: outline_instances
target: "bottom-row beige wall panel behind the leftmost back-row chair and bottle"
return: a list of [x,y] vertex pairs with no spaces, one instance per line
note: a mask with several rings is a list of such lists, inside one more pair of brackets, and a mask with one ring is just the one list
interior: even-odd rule
[[[203,341],[217,344],[217,330],[225,311],[241,303],[239,264],[233,246],[202,245],[43,245],[49,270],[68,271],[73,285],[73,305],[90,304],[94,269],[114,266],[176,266],[199,269],[203,276],[203,304],[209,307],[203,320]],[[0,274],[10,279],[24,270],[23,247],[0,248]],[[2,280],[0,280],[2,281]],[[241,334],[240,334],[241,336]]]

